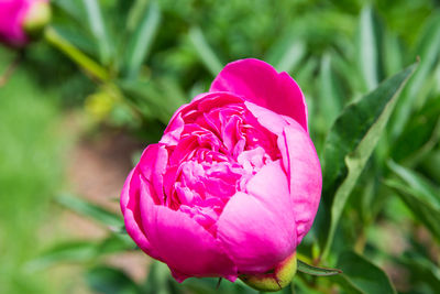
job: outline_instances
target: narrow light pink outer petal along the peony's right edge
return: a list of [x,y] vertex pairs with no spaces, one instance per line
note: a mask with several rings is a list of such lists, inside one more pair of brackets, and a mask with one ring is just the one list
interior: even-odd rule
[[284,140],[278,140],[278,144],[284,141],[287,149],[290,194],[299,243],[310,230],[318,210],[322,173],[314,143],[299,124],[285,127],[283,138]]

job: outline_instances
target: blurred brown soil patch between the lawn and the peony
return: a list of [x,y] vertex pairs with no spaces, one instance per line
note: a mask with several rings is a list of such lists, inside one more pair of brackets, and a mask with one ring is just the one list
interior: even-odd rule
[[[66,119],[66,128],[76,134],[72,150],[66,155],[66,178],[68,190],[78,197],[117,214],[120,213],[119,196],[125,177],[133,167],[132,156],[145,144],[123,130],[99,127],[90,131],[82,126],[82,118],[75,115]],[[100,224],[72,211],[63,211],[61,227],[70,238],[101,239],[109,229]],[[110,254],[105,263],[125,271],[135,281],[146,275],[150,260],[141,251]]]

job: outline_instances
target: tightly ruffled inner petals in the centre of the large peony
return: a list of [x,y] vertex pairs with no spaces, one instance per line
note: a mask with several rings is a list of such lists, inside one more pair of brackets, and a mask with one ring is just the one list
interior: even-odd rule
[[241,104],[188,111],[176,146],[169,148],[165,177],[173,177],[166,205],[180,210],[213,236],[217,220],[237,192],[265,164],[280,157],[276,137]]

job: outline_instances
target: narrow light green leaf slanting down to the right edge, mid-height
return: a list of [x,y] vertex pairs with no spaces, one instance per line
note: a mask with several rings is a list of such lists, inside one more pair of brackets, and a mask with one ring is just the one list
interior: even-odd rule
[[435,209],[440,209],[440,189],[421,174],[406,168],[393,161],[388,161],[389,168],[396,173],[405,183],[417,192],[420,199],[432,205]]

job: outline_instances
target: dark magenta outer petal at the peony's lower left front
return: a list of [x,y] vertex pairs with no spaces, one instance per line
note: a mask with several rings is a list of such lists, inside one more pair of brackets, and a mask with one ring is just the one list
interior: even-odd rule
[[141,215],[143,228],[160,259],[178,282],[189,276],[223,276],[234,281],[238,272],[220,241],[187,215],[154,205],[143,183]]

